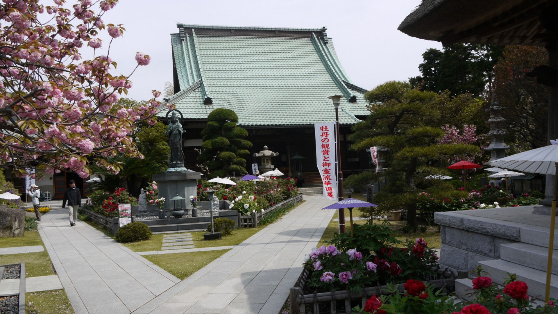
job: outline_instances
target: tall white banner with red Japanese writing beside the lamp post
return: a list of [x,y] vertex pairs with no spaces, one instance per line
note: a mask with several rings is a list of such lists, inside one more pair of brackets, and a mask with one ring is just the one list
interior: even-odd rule
[[324,198],[337,201],[335,123],[314,123],[314,132],[316,134],[316,164],[324,184]]

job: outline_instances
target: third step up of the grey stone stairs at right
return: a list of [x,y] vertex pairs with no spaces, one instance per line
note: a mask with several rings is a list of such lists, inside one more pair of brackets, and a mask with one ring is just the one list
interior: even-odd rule
[[[500,258],[546,272],[549,249],[522,242],[501,244]],[[558,275],[558,250],[552,253],[552,274]]]

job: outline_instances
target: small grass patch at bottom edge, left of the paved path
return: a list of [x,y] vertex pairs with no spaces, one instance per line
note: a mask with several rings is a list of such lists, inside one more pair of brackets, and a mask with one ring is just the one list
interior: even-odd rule
[[74,313],[64,289],[25,294],[25,313],[58,314]]

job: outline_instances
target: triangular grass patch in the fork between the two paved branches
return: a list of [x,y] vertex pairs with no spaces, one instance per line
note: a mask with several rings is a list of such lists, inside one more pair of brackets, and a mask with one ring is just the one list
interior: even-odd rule
[[179,279],[184,279],[197,272],[211,261],[227,253],[228,250],[215,250],[193,253],[173,253],[143,255],[144,258],[153,264],[165,269]]

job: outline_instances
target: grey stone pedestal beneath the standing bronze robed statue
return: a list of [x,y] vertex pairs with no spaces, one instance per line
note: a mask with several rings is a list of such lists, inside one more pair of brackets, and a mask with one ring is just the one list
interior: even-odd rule
[[167,170],[165,173],[153,174],[153,180],[157,182],[159,197],[165,198],[163,210],[172,211],[174,209],[174,204],[172,203],[173,201],[170,199],[175,197],[176,194],[185,198],[184,201],[182,201],[184,202],[184,204],[182,204],[183,209],[189,210],[192,208],[189,201],[190,195],[196,195],[196,184],[197,180],[200,178],[200,173],[192,170],[170,172]]

